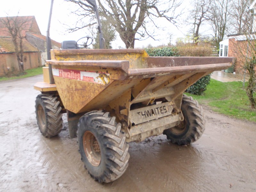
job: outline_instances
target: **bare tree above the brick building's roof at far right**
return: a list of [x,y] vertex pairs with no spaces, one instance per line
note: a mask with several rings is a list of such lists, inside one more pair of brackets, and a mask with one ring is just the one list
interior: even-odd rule
[[250,23],[249,6],[252,4],[252,0],[232,0],[232,9],[230,15],[232,17],[232,26],[234,32],[237,34],[243,34],[247,30],[247,24]]

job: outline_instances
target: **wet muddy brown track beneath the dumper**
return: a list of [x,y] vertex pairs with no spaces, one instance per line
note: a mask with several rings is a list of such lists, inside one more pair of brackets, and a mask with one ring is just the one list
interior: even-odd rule
[[[188,147],[164,135],[130,143],[129,167],[100,184],[84,169],[67,119],[44,138],[33,84],[42,76],[0,82],[0,191],[256,191],[256,124],[205,109],[203,136]],[[64,116],[65,117],[65,116]]]

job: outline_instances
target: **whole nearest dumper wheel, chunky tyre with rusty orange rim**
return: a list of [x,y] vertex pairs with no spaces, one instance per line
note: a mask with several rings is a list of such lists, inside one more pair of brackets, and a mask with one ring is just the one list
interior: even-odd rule
[[86,113],[79,120],[77,139],[81,160],[95,180],[108,183],[123,175],[129,145],[116,117],[103,111]]

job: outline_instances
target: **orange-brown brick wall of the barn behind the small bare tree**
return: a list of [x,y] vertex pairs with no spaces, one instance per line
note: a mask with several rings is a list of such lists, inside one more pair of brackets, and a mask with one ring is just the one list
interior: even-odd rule
[[[40,52],[24,53],[24,69],[37,68],[42,66]],[[10,67],[10,70],[7,70]],[[5,76],[10,72],[19,72],[19,65],[15,53],[0,53],[0,76]]]

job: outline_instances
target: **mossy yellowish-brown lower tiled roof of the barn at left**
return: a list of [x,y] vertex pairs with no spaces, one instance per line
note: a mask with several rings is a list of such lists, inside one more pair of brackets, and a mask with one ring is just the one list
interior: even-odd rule
[[[37,52],[38,50],[28,43],[27,40],[23,39],[23,51],[24,52]],[[0,53],[3,52],[15,52],[15,46],[12,43],[12,38],[10,37],[0,37]]]

